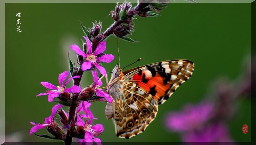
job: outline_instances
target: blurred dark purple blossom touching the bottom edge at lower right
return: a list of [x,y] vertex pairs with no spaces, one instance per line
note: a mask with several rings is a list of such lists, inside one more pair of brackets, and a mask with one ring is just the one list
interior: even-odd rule
[[231,142],[228,128],[220,122],[202,126],[182,134],[183,142]]

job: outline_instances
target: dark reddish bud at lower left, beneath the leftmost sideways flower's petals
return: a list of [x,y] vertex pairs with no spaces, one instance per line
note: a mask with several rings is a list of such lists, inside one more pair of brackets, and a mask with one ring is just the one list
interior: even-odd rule
[[64,131],[60,126],[52,121],[50,125],[46,126],[47,131],[58,139],[65,140]]

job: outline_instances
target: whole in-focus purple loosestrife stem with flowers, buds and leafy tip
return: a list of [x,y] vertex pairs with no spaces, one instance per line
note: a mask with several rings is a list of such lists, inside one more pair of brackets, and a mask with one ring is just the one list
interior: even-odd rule
[[[111,96],[105,90],[99,88],[102,86],[102,81],[98,77],[97,70],[106,77],[106,69],[102,66],[103,63],[110,63],[113,61],[112,54],[104,54],[106,50],[106,41],[108,36],[113,35],[129,42],[136,42],[127,37],[134,31],[133,19],[136,15],[141,17],[156,17],[160,16],[153,11],[160,12],[167,6],[167,1],[139,1],[136,6],[124,2],[122,4],[116,3],[116,9],[110,11],[110,15],[114,23],[108,27],[107,30],[101,33],[101,22],[95,21],[92,28],[86,28],[80,22],[80,25],[86,36],[83,36],[83,50],[77,45],[71,45],[71,50],[77,54],[77,64],[72,63],[68,56],[69,72],[65,71],[59,75],[59,86],[54,86],[48,82],[41,82],[47,88],[46,93],[40,95],[48,95],[49,102],[58,103],[52,108],[52,115],[45,118],[44,124],[34,123],[29,134],[35,134],[39,137],[48,139],[63,140],[66,145],[71,145],[73,137],[76,137],[81,144],[86,142],[101,142],[98,138],[103,132],[104,127],[101,124],[93,125],[94,118],[89,107],[94,101],[105,101],[112,103]],[[97,70],[96,70],[97,69]],[[92,85],[82,88],[80,82],[84,71],[91,71],[93,77]],[[68,78],[70,78],[64,82]],[[66,88],[67,83],[73,80],[73,86]],[[63,83],[64,82],[64,83]],[[68,112],[62,107],[67,106]],[[55,114],[59,116],[59,123],[54,118]],[[56,115],[57,116],[57,115]],[[55,116],[55,117],[56,117]],[[46,128],[47,131],[53,135],[38,135],[38,129]]]

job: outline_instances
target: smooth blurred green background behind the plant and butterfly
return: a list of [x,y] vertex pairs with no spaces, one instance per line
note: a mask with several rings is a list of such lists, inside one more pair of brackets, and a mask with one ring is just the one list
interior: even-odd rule
[[[59,73],[68,70],[67,53],[72,61],[76,55],[71,44],[82,45],[83,31],[79,20],[89,27],[95,19],[102,21],[102,30],[113,22],[108,15],[115,8],[108,4],[5,4],[5,133],[18,132],[22,141],[53,141],[29,136],[29,121],[44,122],[54,103],[44,92],[41,81],[58,84]],[[22,32],[18,33],[15,14],[21,12]],[[179,135],[164,126],[164,116],[179,110],[188,102],[197,103],[212,91],[210,85],[220,76],[236,79],[242,71],[244,57],[251,55],[251,4],[169,4],[162,17],[134,20],[131,38],[140,43],[119,41],[121,67],[142,58],[129,68],[149,63],[189,59],[195,63],[193,76],[159,106],[155,121],[142,134],[129,140],[116,137],[114,125],[105,118],[103,102],[92,103],[91,110],[104,125],[102,141],[180,141]],[[116,56],[107,71],[118,62],[117,40],[107,39],[108,54]],[[128,68],[127,68],[128,69]],[[90,72],[84,73],[82,87],[92,83]],[[69,84],[71,85],[71,84]],[[214,90],[213,90],[214,91]],[[251,141],[251,102],[240,99],[236,117],[229,122],[234,141]],[[242,126],[249,126],[248,134]],[[44,129],[38,131],[46,134]]]

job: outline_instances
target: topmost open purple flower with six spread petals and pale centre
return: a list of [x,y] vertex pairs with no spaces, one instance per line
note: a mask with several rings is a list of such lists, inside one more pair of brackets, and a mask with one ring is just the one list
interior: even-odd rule
[[[84,36],[83,36],[84,37]],[[100,66],[100,62],[106,62],[110,63],[113,59],[114,56],[112,54],[103,54],[101,55],[105,50],[106,50],[106,42],[100,42],[96,48],[96,50],[92,53],[92,44],[88,40],[88,38],[84,37],[86,40],[86,45],[88,48],[88,54],[85,54],[77,45],[71,45],[70,49],[74,50],[78,55],[81,55],[85,57],[85,61],[82,64],[82,70],[88,70],[94,65],[102,75],[106,75],[106,70],[104,67]]]

